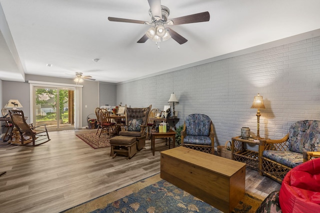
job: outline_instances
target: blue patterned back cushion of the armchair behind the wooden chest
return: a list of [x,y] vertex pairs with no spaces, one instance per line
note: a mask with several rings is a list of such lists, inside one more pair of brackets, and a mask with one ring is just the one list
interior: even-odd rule
[[186,135],[209,136],[211,119],[204,114],[191,114],[185,118]]

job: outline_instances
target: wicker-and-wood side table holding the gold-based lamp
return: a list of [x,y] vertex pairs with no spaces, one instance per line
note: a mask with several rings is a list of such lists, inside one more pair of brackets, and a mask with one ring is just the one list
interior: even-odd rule
[[[262,139],[262,138],[259,138]],[[241,139],[241,136],[233,137],[231,143],[231,158],[232,160],[245,163],[250,169],[259,171],[260,161],[260,141],[259,139],[248,140]],[[258,145],[258,152],[247,150],[244,148],[244,143]]]

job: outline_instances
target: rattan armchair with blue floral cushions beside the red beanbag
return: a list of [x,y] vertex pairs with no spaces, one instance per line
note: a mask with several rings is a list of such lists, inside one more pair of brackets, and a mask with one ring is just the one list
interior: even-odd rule
[[260,142],[260,175],[281,183],[292,168],[320,157],[320,121],[298,121],[284,138]]

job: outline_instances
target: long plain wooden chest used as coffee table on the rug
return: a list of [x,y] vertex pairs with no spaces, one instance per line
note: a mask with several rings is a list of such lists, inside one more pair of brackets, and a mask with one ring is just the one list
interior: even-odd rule
[[161,152],[160,177],[224,213],[244,196],[244,163],[185,147]]

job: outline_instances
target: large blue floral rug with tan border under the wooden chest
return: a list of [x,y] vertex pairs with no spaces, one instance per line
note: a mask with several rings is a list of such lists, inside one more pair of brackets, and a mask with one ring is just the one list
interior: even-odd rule
[[[245,194],[233,213],[254,213],[261,200]],[[160,174],[73,207],[63,213],[221,213],[162,180]]]

